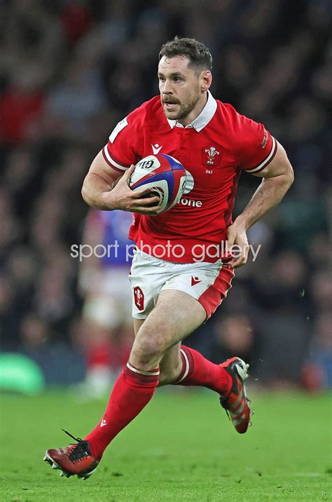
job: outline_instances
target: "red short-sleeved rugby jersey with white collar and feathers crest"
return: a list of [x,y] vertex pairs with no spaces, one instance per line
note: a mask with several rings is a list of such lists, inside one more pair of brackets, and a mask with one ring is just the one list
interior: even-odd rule
[[[242,170],[262,170],[276,151],[277,142],[262,124],[208,93],[202,113],[186,127],[167,119],[160,97],[153,97],[118,123],[103,155],[120,171],[158,153],[184,165],[188,182],[181,201],[158,216],[135,214],[129,237],[150,255],[191,263],[215,262],[221,256],[216,250],[222,248],[232,223]],[[198,259],[200,250],[207,250],[202,259]]]

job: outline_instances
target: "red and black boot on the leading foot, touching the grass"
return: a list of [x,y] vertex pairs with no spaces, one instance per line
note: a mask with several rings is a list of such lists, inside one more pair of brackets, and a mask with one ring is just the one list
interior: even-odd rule
[[[67,430],[64,432],[67,433]],[[60,476],[77,475],[77,477],[86,480],[95,472],[99,460],[92,454],[88,441],[67,434],[77,441],[77,444],[64,448],[48,449],[43,460],[48,462],[53,469],[60,469]]]

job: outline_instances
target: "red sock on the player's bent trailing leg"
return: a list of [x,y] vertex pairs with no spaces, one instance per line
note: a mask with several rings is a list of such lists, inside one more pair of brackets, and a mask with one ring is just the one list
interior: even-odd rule
[[196,385],[228,395],[233,381],[221,366],[205,359],[193,348],[181,346],[182,371],[175,385]]

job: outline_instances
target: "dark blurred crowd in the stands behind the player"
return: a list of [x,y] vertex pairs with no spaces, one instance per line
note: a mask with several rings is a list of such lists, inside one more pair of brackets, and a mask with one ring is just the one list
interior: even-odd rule
[[[188,344],[215,362],[247,358],[258,387],[332,386],[331,2],[4,0],[0,13],[2,350],[32,357],[49,384],[84,379],[87,331],[108,346],[95,363],[116,372],[127,357],[130,328],[86,313],[70,247],[83,240],[92,159],[158,93],[158,52],[178,34],[210,48],[214,96],[264,123],[296,173],[249,231],[256,262]],[[242,175],[235,213],[257,184]]]

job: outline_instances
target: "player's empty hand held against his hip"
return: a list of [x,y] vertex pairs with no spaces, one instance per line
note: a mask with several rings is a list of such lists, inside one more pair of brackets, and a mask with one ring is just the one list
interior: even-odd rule
[[224,266],[237,269],[237,267],[247,263],[249,254],[247,231],[244,224],[236,219],[233,225],[228,226],[227,249],[233,258]]

